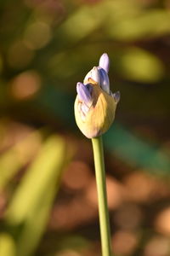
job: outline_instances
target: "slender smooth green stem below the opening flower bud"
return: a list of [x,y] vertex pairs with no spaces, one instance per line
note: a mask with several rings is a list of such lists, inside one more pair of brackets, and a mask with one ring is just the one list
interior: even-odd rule
[[103,256],[111,256],[111,231],[107,207],[105,184],[105,160],[102,137],[92,138],[94,149],[94,166],[99,201],[99,226]]

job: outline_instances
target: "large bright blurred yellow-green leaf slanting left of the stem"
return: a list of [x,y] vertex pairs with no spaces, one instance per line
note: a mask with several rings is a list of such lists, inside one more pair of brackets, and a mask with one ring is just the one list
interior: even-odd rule
[[48,193],[48,188],[54,180],[59,182],[64,160],[64,141],[60,137],[49,137],[14,194],[8,207],[8,223],[20,224],[25,221],[29,212],[37,207],[39,201]]

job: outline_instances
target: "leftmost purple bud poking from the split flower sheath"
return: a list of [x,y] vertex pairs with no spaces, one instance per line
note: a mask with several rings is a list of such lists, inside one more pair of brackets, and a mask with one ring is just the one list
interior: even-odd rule
[[88,106],[92,104],[92,85],[77,83],[77,94],[80,101],[85,102]]

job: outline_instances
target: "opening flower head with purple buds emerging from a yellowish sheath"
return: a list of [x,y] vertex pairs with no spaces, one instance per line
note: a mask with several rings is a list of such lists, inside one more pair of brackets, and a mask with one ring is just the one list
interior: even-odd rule
[[83,84],[77,83],[75,117],[79,129],[88,138],[105,133],[115,118],[120,92],[110,90],[109,65],[108,55],[101,55],[99,66],[88,72]]

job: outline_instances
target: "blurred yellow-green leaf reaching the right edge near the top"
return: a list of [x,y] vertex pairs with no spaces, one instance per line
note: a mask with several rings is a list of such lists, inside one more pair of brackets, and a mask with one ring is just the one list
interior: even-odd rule
[[118,17],[107,25],[107,32],[111,38],[118,40],[132,41],[143,38],[160,37],[162,34],[170,32],[169,10],[152,9],[143,10],[138,15],[128,15]]

